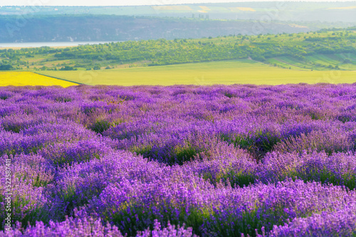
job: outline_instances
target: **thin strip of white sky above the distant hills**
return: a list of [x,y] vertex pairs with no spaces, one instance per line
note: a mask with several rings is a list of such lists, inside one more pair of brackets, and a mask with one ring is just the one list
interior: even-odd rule
[[[169,4],[201,4],[221,2],[241,2],[253,0],[0,0],[0,6],[140,6]],[[256,0],[276,1],[276,0]],[[278,0],[277,0],[278,1]],[[283,0],[279,0],[283,1]],[[308,1],[308,0],[306,0]],[[328,0],[312,0],[328,1]],[[329,0],[340,1],[340,0]],[[351,0],[352,1],[352,0]],[[355,1],[355,0],[354,0]]]

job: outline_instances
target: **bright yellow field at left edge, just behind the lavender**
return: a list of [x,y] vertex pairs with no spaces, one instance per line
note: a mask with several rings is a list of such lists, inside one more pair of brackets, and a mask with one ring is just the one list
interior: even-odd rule
[[38,75],[33,72],[0,72],[0,87],[6,86],[61,86],[76,85],[52,77]]

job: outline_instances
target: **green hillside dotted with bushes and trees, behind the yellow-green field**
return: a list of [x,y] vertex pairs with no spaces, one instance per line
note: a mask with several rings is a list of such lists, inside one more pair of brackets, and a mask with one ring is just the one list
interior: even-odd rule
[[[122,43],[82,45],[73,48],[23,48],[0,50],[0,64],[13,69],[87,70],[110,65],[140,63],[142,66],[188,62],[251,59],[268,63],[288,56],[312,66],[338,69],[337,65],[307,62],[310,55],[334,55],[337,63],[355,63],[356,28],[322,30],[314,33],[276,35],[230,35],[218,38],[175,40],[131,40]],[[340,57],[349,54],[350,58]],[[36,67],[36,68],[34,68]]]

